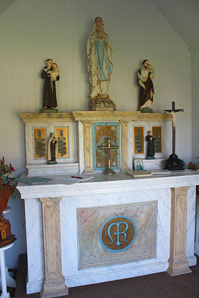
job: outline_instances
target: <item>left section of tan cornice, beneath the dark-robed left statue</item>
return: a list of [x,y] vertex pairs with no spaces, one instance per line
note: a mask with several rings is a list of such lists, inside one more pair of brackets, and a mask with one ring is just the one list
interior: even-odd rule
[[73,122],[72,113],[19,113],[23,122]]

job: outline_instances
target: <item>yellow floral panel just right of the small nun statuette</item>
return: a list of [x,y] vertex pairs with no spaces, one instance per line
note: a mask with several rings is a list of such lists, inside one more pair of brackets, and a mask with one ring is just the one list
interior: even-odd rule
[[56,128],[57,157],[68,157],[67,127]]

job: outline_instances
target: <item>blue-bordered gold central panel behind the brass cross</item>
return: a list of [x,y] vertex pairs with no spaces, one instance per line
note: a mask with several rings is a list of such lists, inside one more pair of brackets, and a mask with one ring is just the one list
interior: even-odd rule
[[95,171],[105,170],[108,166],[108,150],[102,149],[108,145],[118,146],[118,149],[110,149],[110,167],[113,170],[120,169],[120,126],[118,122],[96,122],[92,127],[93,142],[93,167]]

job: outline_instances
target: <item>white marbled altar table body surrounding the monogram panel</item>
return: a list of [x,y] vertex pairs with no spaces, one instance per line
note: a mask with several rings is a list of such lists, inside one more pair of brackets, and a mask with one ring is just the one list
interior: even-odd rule
[[[171,275],[190,272],[188,266],[195,265],[197,261],[194,255],[194,236],[196,185],[198,184],[199,173],[191,170],[187,174],[153,175],[150,178],[136,179],[125,173],[116,173],[111,176],[94,174],[91,180],[75,185],[46,183],[29,186],[18,183],[17,189],[25,204],[28,257],[27,294],[40,292],[43,287],[45,249],[43,248],[41,201],[44,198],[49,198],[49,201],[56,201],[56,198],[60,200],[61,243],[58,245],[61,251],[62,274],[66,286],[70,288],[163,272],[167,271],[169,266],[171,272],[168,273]],[[179,200],[185,203],[183,213],[178,214],[177,208],[177,215],[173,218],[171,218],[171,208],[175,207],[172,207],[174,203],[171,205],[172,196],[173,202],[180,198]],[[154,258],[78,269],[78,208],[104,207],[105,209],[107,205],[119,206],[148,201],[157,203],[157,244]],[[178,207],[178,204],[176,206]],[[175,244],[173,232],[170,232],[175,227],[176,217],[179,221],[177,236],[184,234],[186,238],[187,233],[184,246],[181,245],[182,237],[175,238]],[[185,230],[184,226],[186,226]],[[178,265],[176,265],[173,252],[175,250],[178,253],[178,249],[181,251],[178,254]],[[178,270],[181,272],[179,273]]]

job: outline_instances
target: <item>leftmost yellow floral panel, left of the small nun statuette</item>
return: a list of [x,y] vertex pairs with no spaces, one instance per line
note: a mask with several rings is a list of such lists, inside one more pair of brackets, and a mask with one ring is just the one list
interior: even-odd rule
[[46,129],[34,128],[34,156],[46,158]]

